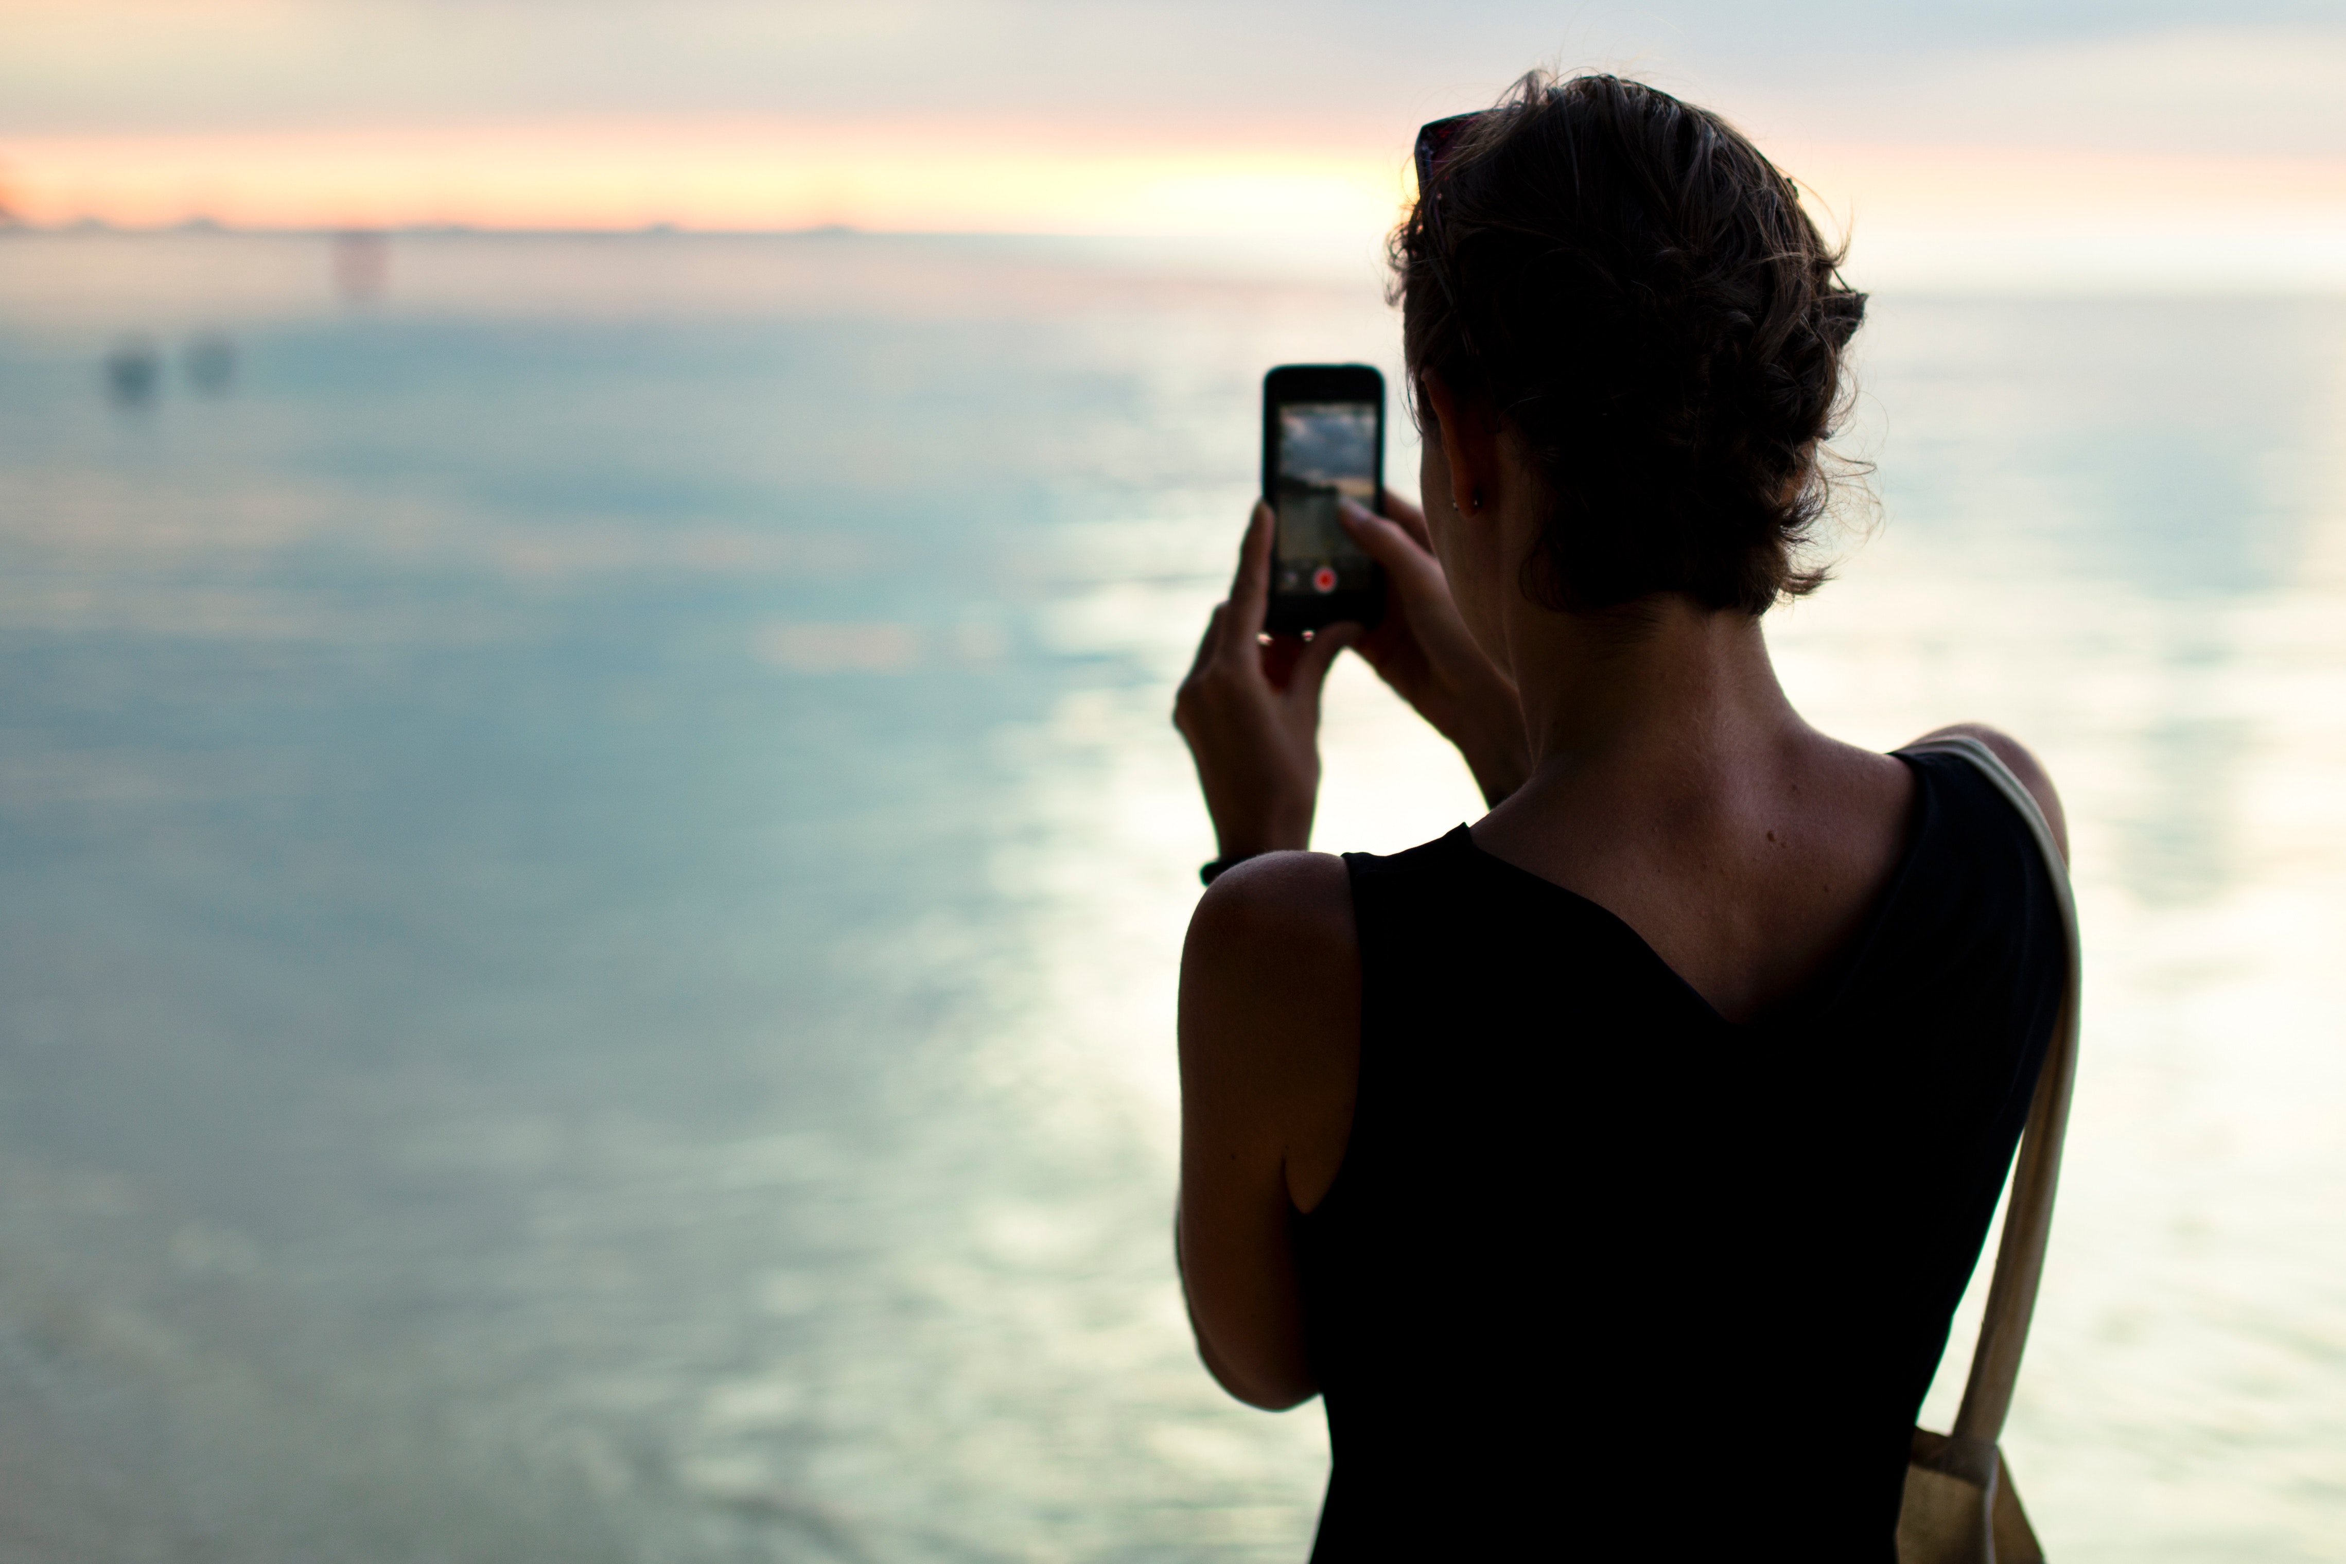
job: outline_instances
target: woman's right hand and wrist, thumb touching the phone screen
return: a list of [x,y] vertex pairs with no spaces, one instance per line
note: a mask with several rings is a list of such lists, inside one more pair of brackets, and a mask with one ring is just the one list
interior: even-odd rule
[[1497,804],[1532,771],[1523,706],[1459,619],[1424,511],[1384,490],[1384,516],[1351,499],[1340,514],[1351,539],[1384,565],[1386,582],[1384,621],[1354,650],[1433,732],[1459,746],[1483,802]]

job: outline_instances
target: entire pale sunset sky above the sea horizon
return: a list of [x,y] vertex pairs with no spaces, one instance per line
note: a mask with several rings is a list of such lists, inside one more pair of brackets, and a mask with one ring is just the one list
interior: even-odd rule
[[1722,110],[1900,265],[2346,288],[2339,0],[0,0],[0,204],[1354,244],[1530,66]]

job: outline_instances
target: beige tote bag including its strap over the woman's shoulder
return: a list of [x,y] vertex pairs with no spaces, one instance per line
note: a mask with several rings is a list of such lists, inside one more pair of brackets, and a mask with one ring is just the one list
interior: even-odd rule
[[2069,1090],[2076,1083],[2079,1018],[2079,940],[2076,903],[2069,896],[2069,865],[2053,839],[2043,809],[2011,767],[1996,760],[1978,739],[1947,736],[1910,743],[1903,755],[1961,755],[1987,776],[2036,837],[2046,877],[2060,905],[2067,975],[2053,1041],[2036,1074],[2027,1128],[2020,1135],[2020,1158],[2013,1165],[2013,1194],[2003,1210],[2003,1243],[1996,1247],[1996,1273],[1987,1287],[1987,1315],[1980,1320],[1980,1344],[1971,1355],[1971,1379],[1954,1433],[1940,1437],[1914,1433],[1914,1466],[1907,1473],[1905,1512],[1898,1517],[1900,1564],[1935,1564],[1978,1559],[1980,1564],[2018,1564],[2041,1559],[2036,1536],[2020,1510],[1996,1440],[2013,1409],[2013,1386],[2020,1379],[2020,1348],[2029,1339],[2036,1313],[2036,1283],[2046,1269],[2046,1240],[2053,1231],[2053,1189],[2060,1184],[2062,1135],[2069,1128]]

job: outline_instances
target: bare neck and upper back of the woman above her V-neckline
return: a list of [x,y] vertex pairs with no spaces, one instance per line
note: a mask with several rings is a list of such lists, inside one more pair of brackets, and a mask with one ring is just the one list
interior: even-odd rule
[[1813,980],[1898,865],[1907,767],[1802,722],[1748,614],[1525,605],[1506,647],[1532,776],[1476,846],[1607,907],[1729,1020]]

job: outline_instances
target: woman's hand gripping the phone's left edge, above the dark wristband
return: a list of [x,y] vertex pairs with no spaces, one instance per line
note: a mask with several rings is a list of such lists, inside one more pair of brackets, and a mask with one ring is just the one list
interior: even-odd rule
[[1309,846],[1321,685],[1335,654],[1361,635],[1356,624],[1330,624],[1311,640],[1264,640],[1269,591],[1272,506],[1255,504],[1229,600],[1206,621],[1173,699],[1173,727],[1189,741],[1222,858]]

